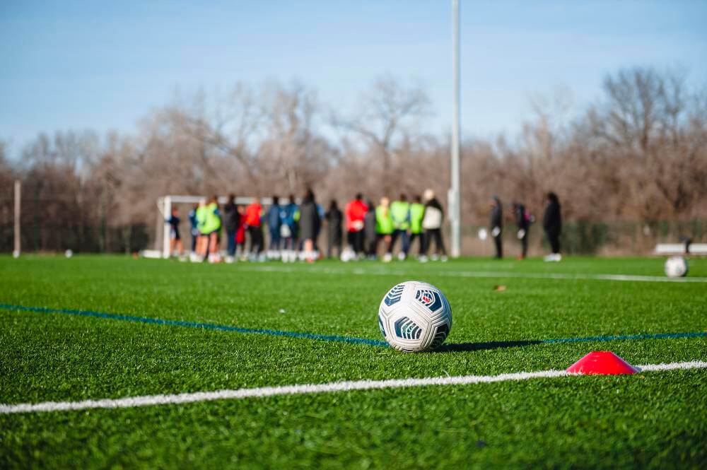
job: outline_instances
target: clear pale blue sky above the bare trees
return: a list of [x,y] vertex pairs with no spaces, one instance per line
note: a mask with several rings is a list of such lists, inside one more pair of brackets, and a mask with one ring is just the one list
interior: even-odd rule
[[[573,110],[626,66],[707,83],[707,1],[467,1],[462,132],[515,134],[529,97],[571,90]],[[0,1],[0,139],[129,132],[181,93],[298,79],[354,102],[384,74],[421,83],[426,130],[448,131],[450,1]]]

